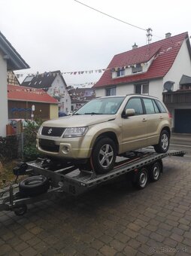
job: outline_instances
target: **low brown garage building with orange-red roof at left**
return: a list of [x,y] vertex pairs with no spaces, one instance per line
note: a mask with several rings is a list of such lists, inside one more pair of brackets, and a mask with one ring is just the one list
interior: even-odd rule
[[[8,84],[9,119],[32,119],[32,114],[34,118],[42,120],[56,118],[58,103],[42,89]],[[34,111],[32,111],[32,105],[35,106]]]

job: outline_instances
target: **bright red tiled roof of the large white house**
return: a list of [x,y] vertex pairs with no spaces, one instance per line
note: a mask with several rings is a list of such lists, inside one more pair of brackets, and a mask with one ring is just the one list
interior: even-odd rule
[[[115,55],[108,69],[105,70],[102,77],[94,85],[94,88],[164,77],[169,69],[171,69],[174,59],[186,38],[188,38],[188,33],[184,32],[180,35],[174,35],[170,38]],[[128,75],[122,78],[112,78],[112,69],[147,62],[153,56],[153,62],[147,72]]]

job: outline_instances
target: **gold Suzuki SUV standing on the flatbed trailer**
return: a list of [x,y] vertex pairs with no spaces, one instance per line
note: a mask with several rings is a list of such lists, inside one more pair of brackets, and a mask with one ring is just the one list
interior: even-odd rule
[[[41,153],[109,172],[117,155],[153,145],[168,151],[171,117],[151,96],[107,96],[92,99],[71,116],[44,122],[38,130]],[[79,161],[80,160],[80,161]]]

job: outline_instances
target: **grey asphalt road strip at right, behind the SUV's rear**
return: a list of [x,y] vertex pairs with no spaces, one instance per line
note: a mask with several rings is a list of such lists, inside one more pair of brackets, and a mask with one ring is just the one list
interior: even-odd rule
[[185,151],[184,157],[191,161],[191,134],[172,133],[170,149]]

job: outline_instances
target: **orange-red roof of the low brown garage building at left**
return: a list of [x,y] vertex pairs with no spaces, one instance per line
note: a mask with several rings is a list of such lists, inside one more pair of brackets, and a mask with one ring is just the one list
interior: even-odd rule
[[42,89],[22,87],[8,84],[8,99],[28,102],[58,103]]

